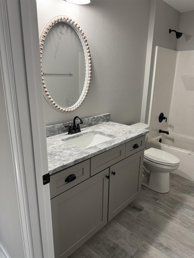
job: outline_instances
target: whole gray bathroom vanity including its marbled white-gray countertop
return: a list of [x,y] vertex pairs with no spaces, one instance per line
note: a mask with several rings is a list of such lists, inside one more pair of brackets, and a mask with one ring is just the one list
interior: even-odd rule
[[[111,139],[85,149],[65,142],[91,132]],[[55,257],[68,257],[139,195],[147,132],[107,122],[47,138]]]

